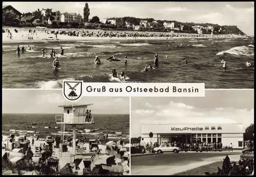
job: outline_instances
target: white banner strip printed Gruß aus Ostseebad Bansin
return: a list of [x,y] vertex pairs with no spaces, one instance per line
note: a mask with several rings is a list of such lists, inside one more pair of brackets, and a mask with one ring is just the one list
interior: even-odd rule
[[204,83],[83,83],[83,96],[204,96]]

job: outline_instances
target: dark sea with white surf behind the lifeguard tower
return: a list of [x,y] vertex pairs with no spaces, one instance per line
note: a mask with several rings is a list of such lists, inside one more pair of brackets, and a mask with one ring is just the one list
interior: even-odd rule
[[[60,124],[55,122],[55,115],[61,114],[2,114],[2,134],[16,135],[27,133],[27,135],[39,135],[40,138],[51,136],[51,133],[57,133],[60,130]],[[109,139],[128,140],[130,138],[130,116],[129,114],[95,114],[95,124],[77,125],[77,136],[85,136],[87,138],[102,137],[104,134],[109,135]],[[28,125],[28,123],[37,123]],[[65,132],[72,134],[72,125],[65,125]],[[37,127],[37,128],[32,128]],[[49,127],[45,129],[45,127]],[[90,132],[90,130],[94,130]]]

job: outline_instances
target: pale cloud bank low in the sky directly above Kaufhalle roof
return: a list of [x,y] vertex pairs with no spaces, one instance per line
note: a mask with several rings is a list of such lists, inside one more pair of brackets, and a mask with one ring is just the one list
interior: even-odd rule
[[254,122],[254,109],[218,107],[196,108],[179,102],[146,103],[144,109],[132,108],[132,137],[141,134],[141,124],[243,123]]

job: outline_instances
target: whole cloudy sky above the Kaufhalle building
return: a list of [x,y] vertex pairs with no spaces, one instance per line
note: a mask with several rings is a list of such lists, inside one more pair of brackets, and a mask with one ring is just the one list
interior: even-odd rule
[[254,123],[254,90],[205,90],[205,97],[132,97],[131,137],[142,124]]

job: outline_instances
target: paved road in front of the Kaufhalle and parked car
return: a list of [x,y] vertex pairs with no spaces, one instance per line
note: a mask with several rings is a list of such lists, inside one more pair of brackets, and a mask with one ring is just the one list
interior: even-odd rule
[[[131,157],[131,174],[173,174],[191,165],[200,166],[225,158],[226,155],[240,155],[241,153],[163,153],[148,156]],[[219,160],[216,160],[219,159]],[[188,167],[190,166],[190,167]],[[195,166],[196,167],[196,166]],[[181,169],[180,169],[181,168]],[[172,172],[173,169],[173,172]]]

